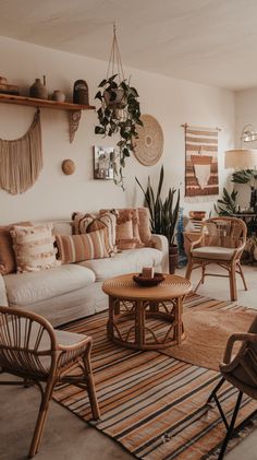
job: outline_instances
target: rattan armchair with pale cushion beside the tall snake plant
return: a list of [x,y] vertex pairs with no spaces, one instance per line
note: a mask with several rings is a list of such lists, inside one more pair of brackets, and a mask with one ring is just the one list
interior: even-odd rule
[[[236,273],[241,275],[244,288],[247,291],[241,267],[241,256],[246,244],[247,227],[237,217],[213,217],[205,221],[199,238],[189,249],[186,278],[189,280],[192,270],[201,268],[201,276],[195,288],[204,283],[205,276],[227,276],[230,279],[231,300],[237,299]],[[206,272],[206,267],[216,263],[228,271],[228,274]]]

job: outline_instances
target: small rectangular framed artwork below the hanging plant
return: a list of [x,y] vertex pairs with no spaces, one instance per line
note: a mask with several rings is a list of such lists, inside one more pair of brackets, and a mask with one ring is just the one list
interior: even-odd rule
[[113,146],[94,146],[94,179],[113,180]]

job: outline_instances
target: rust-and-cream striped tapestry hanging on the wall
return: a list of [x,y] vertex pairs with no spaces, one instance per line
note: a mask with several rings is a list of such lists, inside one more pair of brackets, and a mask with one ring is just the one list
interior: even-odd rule
[[218,131],[185,125],[185,197],[211,200],[219,194]]

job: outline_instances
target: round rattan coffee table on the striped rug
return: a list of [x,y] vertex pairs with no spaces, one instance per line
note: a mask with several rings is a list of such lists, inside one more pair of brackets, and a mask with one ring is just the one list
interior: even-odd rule
[[113,342],[136,350],[160,350],[184,339],[183,299],[192,291],[188,280],[166,274],[158,286],[143,287],[133,274],[107,280],[109,295],[107,334]]

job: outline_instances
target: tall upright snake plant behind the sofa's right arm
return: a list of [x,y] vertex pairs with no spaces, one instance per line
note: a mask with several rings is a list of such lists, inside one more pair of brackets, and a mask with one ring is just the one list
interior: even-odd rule
[[161,198],[163,177],[164,170],[162,165],[156,194],[152,189],[149,176],[145,190],[139,180],[137,178],[135,179],[144,193],[145,204],[150,212],[151,233],[166,235],[169,241],[169,246],[172,246],[174,244],[175,227],[179,217],[180,189],[176,190],[175,188],[170,188],[167,198],[163,200]]

